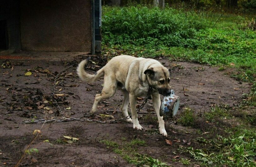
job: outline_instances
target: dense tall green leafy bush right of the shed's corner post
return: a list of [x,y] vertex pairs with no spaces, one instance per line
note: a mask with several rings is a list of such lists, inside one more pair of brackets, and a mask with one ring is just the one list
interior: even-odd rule
[[164,45],[196,48],[196,33],[205,27],[194,12],[172,8],[103,7],[103,44]]

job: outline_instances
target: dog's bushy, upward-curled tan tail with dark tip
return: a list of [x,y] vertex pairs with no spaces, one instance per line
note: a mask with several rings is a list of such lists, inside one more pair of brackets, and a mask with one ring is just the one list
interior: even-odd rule
[[84,66],[90,61],[90,58],[91,57],[88,57],[87,59],[80,62],[76,69],[79,78],[85,83],[94,83],[97,79],[101,78],[104,75],[103,68],[101,68],[95,74],[86,73],[86,71],[84,70]]

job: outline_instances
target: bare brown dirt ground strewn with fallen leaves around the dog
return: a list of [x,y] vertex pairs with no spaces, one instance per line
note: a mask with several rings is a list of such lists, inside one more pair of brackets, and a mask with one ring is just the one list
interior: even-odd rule
[[[45,54],[45,55],[44,55]],[[106,148],[101,140],[112,140],[122,144],[138,138],[146,142],[139,146],[139,154],[147,154],[170,166],[183,166],[173,161],[177,149],[182,146],[196,146],[192,140],[197,136],[192,128],[182,127],[176,123],[182,108],[189,107],[194,112],[208,112],[214,105],[237,105],[242,94],[249,92],[248,83],[238,82],[229,76],[232,69],[218,71],[217,67],[203,66],[189,62],[171,62],[166,58],[159,61],[172,69],[171,86],[180,96],[181,104],[176,118],[166,121],[168,137],[159,134],[157,124],[145,118],[154,117],[152,102],[149,101],[139,114],[142,131],[133,130],[132,124],[126,122],[100,124],[86,121],[69,121],[44,124],[23,124],[25,119],[60,118],[52,101],[53,80],[57,72],[68,67],[68,62],[79,61],[86,57],[83,53],[65,53],[66,56],[44,53],[23,53],[22,56],[0,57],[1,64],[8,58],[12,68],[0,68],[0,166],[14,166],[33,140],[32,132],[41,129],[42,136],[36,139],[30,148],[37,148],[38,153],[26,154],[21,165],[29,166],[132,166],[119,154]],[[57,53],[56,53],[57,54]],[[31,59],[32,57],[32,59]],[[42,58],[44,57],[44,58]],[[15,58],[15,59],[10,59]],[[104,60],[92,57],[86,69],[91,73],[104,65]],[[103,62],[102,62],[103,61]],[[57,81],[56,99],[64,116],[83,118],[93,104],[94,96],[101,92],[103,78],[94,84],[82,83],[76,75],[76,67],[71,67],[61,74]],[[28,71],[31,72],[27,73]],[[29,76],[25,76],[27,73]],[[161,96],[161,98],[163,98]],[[120,91],[111,99],[101,101],[99,112],[90,117],[106,120],[104,115],[113,119],[122,118],[120,106],[123,95]],[[138,100],[141,104],[143,100]],[[149,113],[149,114],[147,114]],[[41,128],[42,127],[42,128]],[[77,137],[75,143],[65,143],[63,135]],[[49,140],[50,143],[43,142]],[[165,139],[178,139],[183,142],[166,144]],[[62,142],[60,142],[62,141]],[[185,142],[184,142],[185,141]],[[191,142],[191,143],[190,143]],[[180,158],[189,155],[179,154]],[[193,163],[192,163],[193,164]]]

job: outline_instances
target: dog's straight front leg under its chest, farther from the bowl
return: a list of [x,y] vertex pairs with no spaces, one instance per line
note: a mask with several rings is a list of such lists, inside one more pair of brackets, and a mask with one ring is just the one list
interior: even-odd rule
[[143,127],[139,125],[138,115],[137,115],[137,111],[136,111],[137,97],[132,94],[129,94],[129,99],[130,99],[130,106],[131,106],[131,111],[132,111],[133,129],[142,130]]

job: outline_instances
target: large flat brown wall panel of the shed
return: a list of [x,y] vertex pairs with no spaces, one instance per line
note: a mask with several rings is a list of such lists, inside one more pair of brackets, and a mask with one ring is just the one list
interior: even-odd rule
[[21,49],[90,51],[90,0],[20,0]]

